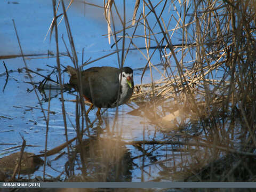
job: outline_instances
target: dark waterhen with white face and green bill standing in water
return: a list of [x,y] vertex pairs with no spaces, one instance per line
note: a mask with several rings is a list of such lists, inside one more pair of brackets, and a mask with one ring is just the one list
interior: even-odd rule
[[[77,70],[67,66],[68,73],[71,75],[69,84],[76,91],[78,86]],[[115,67],[92,67],[82,71],[82,91],[85,100],[91,103],[86,115],[92,107],[98,107],[97,115],[100,114],[100,108],[111,108],[122,105],[127,102],[133,93],[133,70],[130,67],[118,69]],[[119,89],[120,85],[120,89]],[[119,99],[118,97],[119,89]]]

